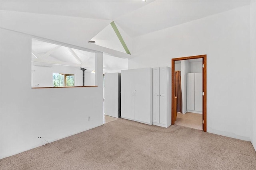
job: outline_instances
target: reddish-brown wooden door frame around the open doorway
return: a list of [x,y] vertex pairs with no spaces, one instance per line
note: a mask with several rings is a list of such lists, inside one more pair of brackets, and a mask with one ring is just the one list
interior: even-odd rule
[[203,98],[203,119],[202,119],[202,125],[203,125],[203,131],[206,132],[206,55],[196,55],[196,56],[190,56],[190,57],[180,57],[180,58],[174,58],[172,59],[172,125],[175,124],[174,120],[174,74],[175,74],[175,61],[181,61],[181,60],[189,60],[189,59],[203,59],[202,64],[204,64],[204,67],[202,66],[202,73],[203,73],[203,92],[204,96]]

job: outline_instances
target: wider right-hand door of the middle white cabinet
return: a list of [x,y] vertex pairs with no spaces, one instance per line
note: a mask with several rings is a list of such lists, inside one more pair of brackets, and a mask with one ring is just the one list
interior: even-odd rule
[[134,70],[134,120],[150,123],[150,68]]

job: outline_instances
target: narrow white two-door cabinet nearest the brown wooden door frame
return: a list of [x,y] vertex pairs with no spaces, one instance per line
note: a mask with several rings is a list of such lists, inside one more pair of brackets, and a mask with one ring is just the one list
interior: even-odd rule
[[170,67],[153,68],[153,125],[171,125],[171,82]]

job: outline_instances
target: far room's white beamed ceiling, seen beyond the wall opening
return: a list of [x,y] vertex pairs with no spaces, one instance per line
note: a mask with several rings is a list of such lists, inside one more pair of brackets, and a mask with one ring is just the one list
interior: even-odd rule
[[[57,48],[56,48],[57,47]],[[32,39],[32,61],[36,63],[61,64],[67,66],[76,66],[86,68],[86,72],[91,72],[95,69],[95,54],[89,51],[72,49],[77,57],[82,61],[82,64],[74,57],[68,47],[59,46],[37,39]],[[50,55],[46,55],[47,53]],[[34,56],[36,55],[36,57]],[[124,70],[128,69],[128,60],[113,57],[107,54],[103,55],[104,70]]]

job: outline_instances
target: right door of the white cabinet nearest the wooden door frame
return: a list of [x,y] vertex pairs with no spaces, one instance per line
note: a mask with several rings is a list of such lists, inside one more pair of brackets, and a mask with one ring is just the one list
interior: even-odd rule
[[160,74],[159,74],[159,79],[160,79],[160,87],[159,87],[159,92],[160,92],[160,123],[161,124],[165,124],[166,125],[166,119],[167,119],[167,98],[166,98],[166,94],[167,94],[167,76],[166,76],[166,67],[160,67]]

